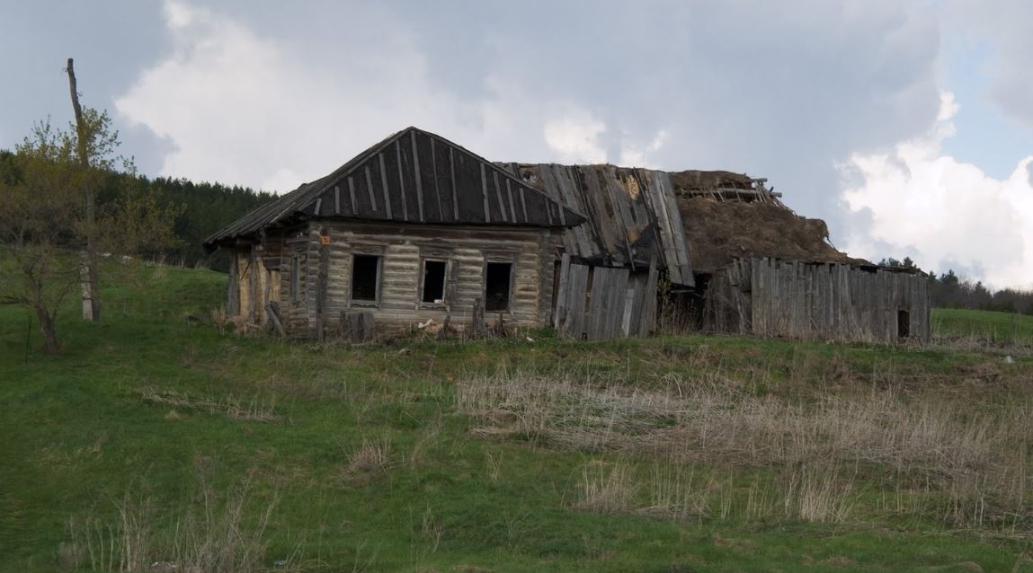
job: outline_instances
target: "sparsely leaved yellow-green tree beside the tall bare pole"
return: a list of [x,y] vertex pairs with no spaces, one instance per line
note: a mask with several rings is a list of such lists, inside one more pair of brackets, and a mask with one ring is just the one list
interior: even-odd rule
[[83,189],[102,186],[120,166],[135,172],[131,161],[115,155],[117,146],[107,114],[85,108],[79,126],[62,131],[49,120],[39,123],[0,160],[0,303],[34,313],[48,354],[60,351],[57,312],[80,283],[80,251],[88,238],[97,252],[113,255],[176,243],[178,208],[159,205],[144,186],[126,185],[87,216]]

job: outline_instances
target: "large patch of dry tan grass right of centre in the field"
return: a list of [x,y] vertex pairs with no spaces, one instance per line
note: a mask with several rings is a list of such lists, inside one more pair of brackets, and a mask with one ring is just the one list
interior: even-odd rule
[[[1033,438],[1028,396],[979,403],[971,394],[915,393],[894,384],[761,396],[719,376],[669,376],[662,390],[638,386],[618,376],[501,373],[464,380],[457,392],[461,410],[479,422],[475,435],[665,460],[652,477],[636,478],[652,492],[649,501],[624,470],[587,469],[585,508],[726,513],[715,511],[714,487],[699,485],[684,468],[690,464],[779,469],[778,491],[768,498],[781,500],[781,514],[805,520],[847,519],[860,484],[872,482],[900,498],[900,508],[933,512],[956,527],[1030,526],[1022,517]],[[760,505],[740,514],[768,512]]]

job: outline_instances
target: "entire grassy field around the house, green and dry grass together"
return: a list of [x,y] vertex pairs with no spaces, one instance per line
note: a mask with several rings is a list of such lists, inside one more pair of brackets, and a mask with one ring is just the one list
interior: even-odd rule
[[286,343],[118,276],[56,358],[0,308],[2,571],[1033,571],[1027,353]]

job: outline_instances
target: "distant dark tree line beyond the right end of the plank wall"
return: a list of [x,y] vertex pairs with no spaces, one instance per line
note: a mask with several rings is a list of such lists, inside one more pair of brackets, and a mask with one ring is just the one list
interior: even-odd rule
[[[921,270],[909,257],[893,257],[879,261],[880,265]],[[1021,288],[991,289],[982,281],[960,277],[948,269],[937,275],[928,273],[929,296],[933,307],[940,309],[973,309],[1033,315],[1033,290]]]

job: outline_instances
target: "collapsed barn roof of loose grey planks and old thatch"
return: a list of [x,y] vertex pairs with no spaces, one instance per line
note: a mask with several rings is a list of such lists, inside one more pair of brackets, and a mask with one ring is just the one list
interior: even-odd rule
[[824,221],[797,216],[764,179],[608,164],[504,165],[588,218],[563,236],[566,252],[587,262],[635,268],[655,257],[683,286],[737,258],[871,264],[836,250]]

